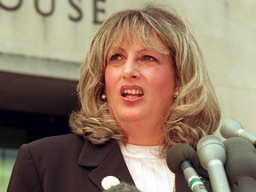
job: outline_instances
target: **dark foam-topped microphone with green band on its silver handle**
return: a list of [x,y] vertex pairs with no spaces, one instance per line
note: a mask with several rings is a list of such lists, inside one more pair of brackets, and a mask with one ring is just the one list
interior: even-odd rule
[[178,143],[167,152],[166,162],[173,173],[179,174],[183,172],[188,186],[193,192],[207,192],[203,181],[193,167],[200,166],[194,148],[185,143]]

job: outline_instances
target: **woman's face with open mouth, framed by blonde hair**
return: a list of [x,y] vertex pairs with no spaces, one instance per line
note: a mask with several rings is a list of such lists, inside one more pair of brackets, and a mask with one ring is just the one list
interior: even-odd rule
[[[166,50],[156,38],[150,40]],[[160,125],[175,89],[171,57],[148,50],[136,38],[121,42],[108,52],[105,82],[108,108],[119,125],[147,119]]]

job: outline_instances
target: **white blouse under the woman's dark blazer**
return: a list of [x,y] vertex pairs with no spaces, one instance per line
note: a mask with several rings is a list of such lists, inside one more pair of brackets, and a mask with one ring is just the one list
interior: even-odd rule
[[164,158],[159,157],[160,146],[120,144],[125,163],[136,187],[142,192],[173,191],[175,174]]

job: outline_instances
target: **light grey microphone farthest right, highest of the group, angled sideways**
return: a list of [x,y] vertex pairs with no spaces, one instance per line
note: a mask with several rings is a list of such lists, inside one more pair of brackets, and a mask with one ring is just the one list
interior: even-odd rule
[[228,139],[231,137],[241,137],[245,140],[252,142],[254,147],[256,147],[256,136],[249,132],[246,132],[242,124],[238,123],[234,119],[226,119],[220,126],[220,134],[222,137]]

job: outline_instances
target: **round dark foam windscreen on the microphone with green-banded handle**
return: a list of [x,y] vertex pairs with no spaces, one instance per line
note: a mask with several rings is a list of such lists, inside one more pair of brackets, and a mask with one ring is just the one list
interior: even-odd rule
[[195,168],[200,166],[199,159],[196,155],[196,150],[186,143],[177,143],[167,152],[167,165],[175,174],[182,173],[180,171],[180,164],[186,160],[190,161]]

